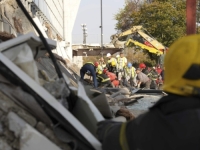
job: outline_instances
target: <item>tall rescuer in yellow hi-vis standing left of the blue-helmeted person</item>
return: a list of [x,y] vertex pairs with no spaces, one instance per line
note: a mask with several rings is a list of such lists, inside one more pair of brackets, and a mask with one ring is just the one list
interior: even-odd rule
[[118,80],[120,82],[120,85],[122,86],[122,77],[124,77],[124,67],[127,64],[127,59],[124,57],[124,53],[120,52],[120,57],[117,59],[117,72],[118,72]]

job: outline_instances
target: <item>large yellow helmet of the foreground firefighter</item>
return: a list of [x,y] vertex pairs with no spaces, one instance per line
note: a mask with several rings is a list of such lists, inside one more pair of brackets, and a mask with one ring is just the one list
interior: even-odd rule
[[166,92],[183,96],[200,90],[200,35],[190,35],[171,45],[164,60]]

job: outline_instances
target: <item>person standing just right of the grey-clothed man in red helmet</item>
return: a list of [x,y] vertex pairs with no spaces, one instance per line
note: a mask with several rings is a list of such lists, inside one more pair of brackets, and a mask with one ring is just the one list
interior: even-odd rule
[[150,89],[158,89],[157,80],[158,80],[158,73],[155,70],[155,67],[152,67],[148,73],[148,77],[151,79]]

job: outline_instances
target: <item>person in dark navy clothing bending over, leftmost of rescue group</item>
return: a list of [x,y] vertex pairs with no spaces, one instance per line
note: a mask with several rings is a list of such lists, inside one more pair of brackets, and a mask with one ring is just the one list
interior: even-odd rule
[[93,62],[87,62],[82,66],[80,70],[81,80],[84,80],[86,73],[92,76],[94,88],[97,88],[96,67]]

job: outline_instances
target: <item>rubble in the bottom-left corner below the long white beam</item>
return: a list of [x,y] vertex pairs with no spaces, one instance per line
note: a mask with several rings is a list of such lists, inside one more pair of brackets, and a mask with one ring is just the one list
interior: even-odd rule
[[[1,89],[4,84],[2,82],[0,83]],[[17,104],[17,98],[19,97],[16,96],[15,98],[15,94],[21,94],[21,96],[26,95],[27,98],[29,97],[31,99],[30,95],[18,88],[13,87],[13,90],[18,90],[15,93],[6,93],[9,96],[0,90],[0,149],[28,150],[49,147],[49,150],[70,150],[68,144],[61,142],[55,136],[51,127],[47,127],[43,122],[29,113],[28,110]],[[28,99],[26,100],[28,101]],[[39,113],[38,115],[42,114]]]

